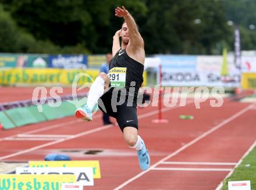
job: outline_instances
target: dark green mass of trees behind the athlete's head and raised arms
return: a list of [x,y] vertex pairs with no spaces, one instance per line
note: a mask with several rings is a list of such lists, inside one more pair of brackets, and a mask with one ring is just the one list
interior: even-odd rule
[[[106,53],[111,50],[113,34],[122,25],[122,19],[114,16],[114,9],[121,5],[137,21],[147,54],[221,54],[223,46],[233,48],[233,28],[226,24],[232,18],[243,26],[243,48],[256,46],[255,33],[246,29],[248,23],[256,20],[255,2],[249,0],[0,2],[10,12],[9,19],[17,23],[16,30],[26,33],[24,38],[31,41],[29,48],[23,46],[24,51]],[[33,48],[32,39],[51,48]]]

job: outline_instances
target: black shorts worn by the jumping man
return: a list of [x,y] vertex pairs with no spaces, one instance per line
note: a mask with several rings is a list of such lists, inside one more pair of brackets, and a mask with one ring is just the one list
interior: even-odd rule
[[[104,95],[99,98],[98,106],[99,109],[114,117],[118,122],[120,129],[123,131],[125,127],[134,127],[138,129],[138,117],[137,117],[137,107],[136,103],[128,103],[128,95],[121,95],[120,91],[115,88],[110,88],[109,91],[105,92]],[[115,94],[113,96],[113,94]],[[122,99],[122,104],[116,105],[112,102],[112,98],[118,96],[116,102]],[[115,99],[115,98],[113,98]],[[137,99],[134,99],[137,101]]]

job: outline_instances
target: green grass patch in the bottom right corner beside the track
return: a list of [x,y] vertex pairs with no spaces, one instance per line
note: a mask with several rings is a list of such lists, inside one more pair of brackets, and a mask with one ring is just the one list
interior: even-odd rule
[[241,164],[234,170],[233,174],[224,180],[222,190],[227,190],[228,181],[251,181],[251,190],[256,190],[256,147],[244,157]]

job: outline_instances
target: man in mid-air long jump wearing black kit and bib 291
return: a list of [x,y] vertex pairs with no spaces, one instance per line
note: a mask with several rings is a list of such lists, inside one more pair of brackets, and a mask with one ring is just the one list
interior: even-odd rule
[[[130,13],[115,9],[115,16],[125,20],[122,28],[113,36],[109,73],[100,73],[91,85],[87,104],[76,110],[76,117],[92,121],[95,105],[111,117],[115,117],[123,137],[130,148],[137,150],[142,170],[150,167],[150,156],[143,139],[138,136],[137,95],[143,83],[145,61],[144,41]],[[122,38],[121,46],[119,37]],[[104,93],[105,91],[105,93]]]

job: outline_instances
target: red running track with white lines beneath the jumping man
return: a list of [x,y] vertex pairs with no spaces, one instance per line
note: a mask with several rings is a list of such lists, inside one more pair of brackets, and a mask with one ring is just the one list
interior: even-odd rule
[[[68,117],[2,131],[0,159],[27,162],[77,150],[69,153],[72,160],[99,160],[101,166],[102,178],[86,189],[215,189],[255,142],[253,106],[226,99],[222,107],[211,107],[209,101],[201,103],[201,109],[193,102],[164,107],[167,124],[151,122],[157,119],[157,107],[138,109],[139,134],[151,156],[147,171],[140,170],[136,152],[127,148],[118,126],[102,127],[101,113],[91,123]],[[180,114],[193,114],[194,120],[180,120]],[[20,134],[67,136],[61,141],[28,141]],[[91,149],[102,152],[84,154]]]

